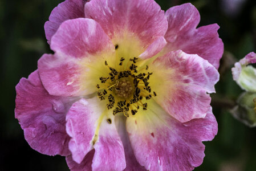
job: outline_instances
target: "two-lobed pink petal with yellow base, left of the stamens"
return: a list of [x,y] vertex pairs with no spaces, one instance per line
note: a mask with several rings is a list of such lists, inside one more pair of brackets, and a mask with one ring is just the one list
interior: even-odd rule
[[94,93],[99,77],[109,72],[104,59],[115,57],[115,47],[100,25],[85,18],[63,22],[51,49],[55,54],[44,54],[38,69],[44,87],[58,96]]

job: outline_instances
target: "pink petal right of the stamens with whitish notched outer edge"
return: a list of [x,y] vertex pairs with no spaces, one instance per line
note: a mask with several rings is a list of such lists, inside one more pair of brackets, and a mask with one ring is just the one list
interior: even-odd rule
[[212,64],[178,50],[157,58],[149,68],[155,99],[166,112],[182,123],[206,116],[210,107],[208,93],[215,92],[214,84],[219,80]]

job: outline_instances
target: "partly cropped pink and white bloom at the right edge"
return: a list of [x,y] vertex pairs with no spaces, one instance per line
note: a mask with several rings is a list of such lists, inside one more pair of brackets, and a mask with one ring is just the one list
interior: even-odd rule
[[256,54],[250,52],[245,58],[235,63],[233,67],[232,75],[237,84],[244,90],[250,92],[256,92],[256,69],[248,64],[256,63]]

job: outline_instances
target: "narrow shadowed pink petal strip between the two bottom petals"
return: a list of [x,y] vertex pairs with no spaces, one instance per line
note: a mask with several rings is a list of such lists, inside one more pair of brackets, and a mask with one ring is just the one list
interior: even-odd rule
[[132,146],[125,128],[125,122],[126,122],[126,117],[123,114],[115,116],[116,129],[119,133],[119,136],[124,146],[124,153],[125,153],[125,160],[126,160],[126,168],[124,170],[125,171],[146,170],[143,166],[139,164],[139,162],[137,162],[137,159],[133,154]]

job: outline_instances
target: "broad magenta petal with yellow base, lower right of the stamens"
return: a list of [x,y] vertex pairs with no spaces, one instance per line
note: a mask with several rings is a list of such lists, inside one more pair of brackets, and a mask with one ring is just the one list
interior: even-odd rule
[[209,109],[204,119],[180,123],[152,102],[127,119],[127,131],[137,161],[147,170],[193,170],[205,156],[201,141],[213,139],[217,122]]

